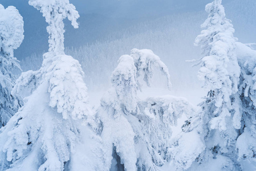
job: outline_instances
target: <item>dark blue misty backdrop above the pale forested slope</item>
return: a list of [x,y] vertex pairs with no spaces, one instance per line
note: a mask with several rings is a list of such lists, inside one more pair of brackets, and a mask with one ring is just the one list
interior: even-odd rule
[[[70,0],[79,11],[78,30],[65,26],[65,46],[79,47],[102,39],[110,32],[121,30],[141,21],[165,15],[190,11],[203,11],[212,0]],[[223,4],[234,0],[223,0]],[[0,0],[7,7],[17,7],[25,22],[25,39],[17,52],[22,59],[31,54],[39,54],[48,49],[47,23],[42,14],[29,6],[28,0]],[[72,35],[72,36],[71,36]],[[77,38],[83,38],[80,42]],[[25,51],[26,49],[26,51]]]

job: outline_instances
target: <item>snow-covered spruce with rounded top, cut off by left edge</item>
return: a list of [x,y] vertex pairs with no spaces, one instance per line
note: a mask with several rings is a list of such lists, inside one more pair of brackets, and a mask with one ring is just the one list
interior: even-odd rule
[[14,58],[24,38],[23,18],[14,6],[6,9],[0,4],[0,128],[5,126],[23,104],[21,97],[12,94],[15,84],[15,70],[21,70]]

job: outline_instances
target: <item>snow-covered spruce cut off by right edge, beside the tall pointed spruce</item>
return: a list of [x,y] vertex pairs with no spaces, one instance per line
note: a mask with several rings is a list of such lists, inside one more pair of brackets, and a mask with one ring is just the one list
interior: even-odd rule
[[[237,43],[237,57],[241,67],[239,97],[241,99],[241,135],[237,139],[238,160],[256,162],[256,51]],[[247,163],[248,165],[250,165]],[[251,169],[253,170],[253,169]]]

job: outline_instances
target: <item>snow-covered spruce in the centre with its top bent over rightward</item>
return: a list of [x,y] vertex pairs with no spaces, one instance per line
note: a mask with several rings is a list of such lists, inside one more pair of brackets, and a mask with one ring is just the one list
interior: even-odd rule
[[97,111],[99,134],[108,169],[158,170],[165,161],[170,126],[194,109],[186,100],[173,96],[140,101],[138,77],[144,75],[149,85],[152,67],[156,66],[165,74],[170,88],[169,72],[151,50],[133,49],[131,53],[120,57],[111,77],[112,88],[101,99]]

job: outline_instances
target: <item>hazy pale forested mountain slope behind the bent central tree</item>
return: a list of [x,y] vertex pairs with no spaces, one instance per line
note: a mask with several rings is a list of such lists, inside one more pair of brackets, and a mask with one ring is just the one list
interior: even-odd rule
[[[194,88],[194,85],[198,86],[197,69],[190,67],[192,64],[185,60],[200,57],[200,50],[193,46],[193,41],[204,17],[205,14],[201,12],[184,13],[141,22],[109,34],[105,40],[67,49],[66,52],[82,64],[89,89],[106,88],[117,59],[123,54],[129,54],[132,48],[148,48],[159,55],[169,67],[174,89]],[[36,66],[32,60],[22,61],[23,70]],[[161,82],[155,86],[159,84]]]

